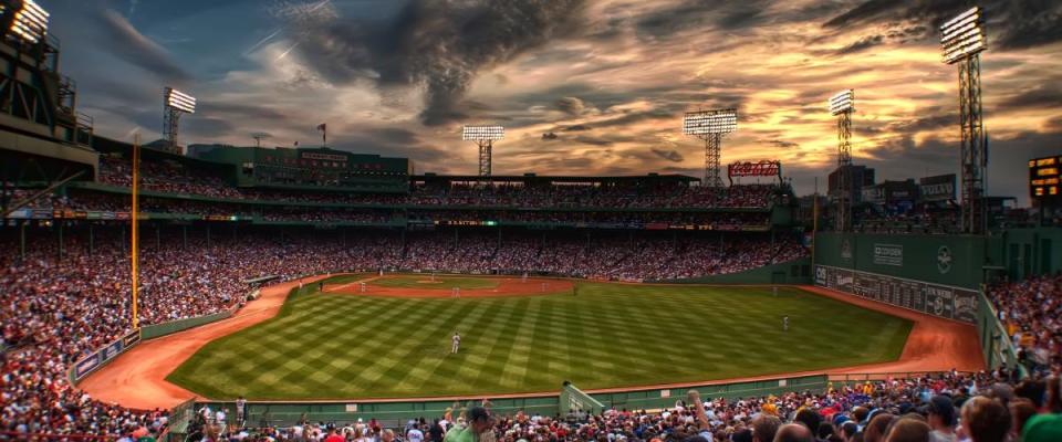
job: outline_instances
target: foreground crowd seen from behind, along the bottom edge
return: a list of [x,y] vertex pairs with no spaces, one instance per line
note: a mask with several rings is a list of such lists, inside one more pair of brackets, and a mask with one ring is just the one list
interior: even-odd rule
[[404,424],[312,422],[311,415],[231,434],[242,442],[1054,442],[1062,440],[1059,383],[1058,377],[1018,381],[1008,370],[952,371],[730,400],[691,390],[665,409],[564,415],[494,412],[483,400]]

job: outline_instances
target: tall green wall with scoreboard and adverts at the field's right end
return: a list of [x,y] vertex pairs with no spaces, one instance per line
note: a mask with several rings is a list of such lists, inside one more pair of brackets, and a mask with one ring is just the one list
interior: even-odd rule
[[[1009,229],[992,236],[815,235],[814,284],[977,327],[985,364],[1020,367],[985,291],[1003,276],[1059,272],[1062,229]],[[1023,369],[1023,368],[1022,368]]]

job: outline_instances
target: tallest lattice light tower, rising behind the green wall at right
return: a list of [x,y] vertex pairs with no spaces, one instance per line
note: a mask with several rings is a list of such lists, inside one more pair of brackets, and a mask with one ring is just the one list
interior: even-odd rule
[[985,17],[974,7],[940,27],[944,62],[959,66],[959,166],[962,175],[962,231],[983,233],[985,175],[988,170],[988,141],[981,114],[981,57],[988,49]]

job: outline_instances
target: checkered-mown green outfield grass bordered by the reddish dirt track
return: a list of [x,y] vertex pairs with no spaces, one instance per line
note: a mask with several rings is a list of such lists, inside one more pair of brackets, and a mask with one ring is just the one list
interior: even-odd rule
[[583,283],[577,296],[512,298],[315,290],[295,291],[275,318],[208,344],[167,379],[211,399],[259,400],[631,387],[895,360],[912,326],[795,288],[775,297],[769,287]]

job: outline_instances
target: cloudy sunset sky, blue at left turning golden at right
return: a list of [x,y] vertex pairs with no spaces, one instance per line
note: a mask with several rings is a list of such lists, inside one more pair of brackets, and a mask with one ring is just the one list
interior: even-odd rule
[[[780,159],[800,193],[835,164],[826,99],[854,88],[853,157],[878,180],[958,171],[939,25],[972,2],[892,0],[39,0],[96,133],[155,139],[162,88],[199,98],[181,144],[320,144],[475,173],[462,124],[497,123],[496,175],[700,177],[687,110],[737,107],[722,162]],[[1027,203],[1062,151],[1062,1],[990,0],[989,193]]]

